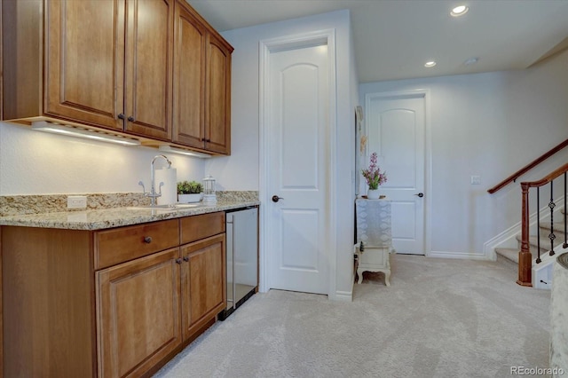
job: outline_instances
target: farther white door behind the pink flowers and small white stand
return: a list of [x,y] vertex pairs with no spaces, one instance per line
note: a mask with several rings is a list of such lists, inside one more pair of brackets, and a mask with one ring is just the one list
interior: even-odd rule
[[425,98],[367,95],[367,161],[378,155],[387,173],[381,194],[391,201],[392,243],[398,253],[425,255]]

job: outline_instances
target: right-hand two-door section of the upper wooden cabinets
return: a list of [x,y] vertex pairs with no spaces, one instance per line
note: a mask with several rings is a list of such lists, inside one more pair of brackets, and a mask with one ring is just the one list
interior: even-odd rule
[[231,154],[231,53],[184,0],[174,20],[173,141]]

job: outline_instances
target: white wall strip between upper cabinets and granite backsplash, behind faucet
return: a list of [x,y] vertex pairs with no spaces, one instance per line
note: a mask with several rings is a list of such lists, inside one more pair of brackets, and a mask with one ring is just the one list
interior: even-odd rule
[[[0,195],[142,192],[157,149],[71,138],[0,122]],[[177,178],[201,181],[203,160],[166,154]],[[157,161],[161,168],[162,161]]]

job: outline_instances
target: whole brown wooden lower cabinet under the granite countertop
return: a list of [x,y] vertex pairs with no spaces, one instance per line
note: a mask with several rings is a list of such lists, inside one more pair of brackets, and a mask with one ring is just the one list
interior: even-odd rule
[[151,376],[225,308],[224,219],[0,227],[0,377]]

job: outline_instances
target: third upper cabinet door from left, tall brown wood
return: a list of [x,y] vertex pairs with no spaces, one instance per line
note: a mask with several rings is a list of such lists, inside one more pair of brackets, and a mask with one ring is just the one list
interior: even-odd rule
[[203,148],[206,28],[182,3],[174,18],[173,141]]

